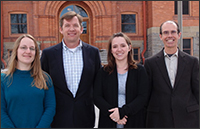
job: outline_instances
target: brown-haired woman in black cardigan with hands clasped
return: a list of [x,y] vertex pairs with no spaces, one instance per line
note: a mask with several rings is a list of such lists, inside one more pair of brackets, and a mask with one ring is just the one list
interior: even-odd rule
[[134,61],[131,40],[124,33],[111,36],[107,61],[94,85],[94,103],[100,110],[98,127],[145,127],[148,77],[145,68]]

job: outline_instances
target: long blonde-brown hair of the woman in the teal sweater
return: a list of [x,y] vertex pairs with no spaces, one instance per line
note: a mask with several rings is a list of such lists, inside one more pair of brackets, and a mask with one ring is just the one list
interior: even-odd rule
[[[48,89],[47,84],[46,84],[46,80],[48,80],[48,76],[47,76],[47,73],[45,74],[45,72],[41,68],[39,47],[35,38],[31,36],[30,34],[23,34],[20,37],[18,37],[17,40],[15,41],[12,55],[8,63],[8,70],[5,72],[6,77],[9,76],[12,78],[13,76],[13,73],[16,69],[17,61],[18,61],[17,50],[19,48],[21,40],[25,37],[33,40],[35,44],[35,59],[33,60],[31,64],[31,76],[34,78],[34,80],[31,85],[32,86],[35,85],[39,89]],[[10,85],[11,83],[12,81],[10,82]]]

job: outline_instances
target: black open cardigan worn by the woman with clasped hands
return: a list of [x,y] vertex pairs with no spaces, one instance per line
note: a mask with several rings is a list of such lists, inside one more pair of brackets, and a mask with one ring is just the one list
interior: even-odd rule
[[[142,65],[128,70],[126,104],[119,108],[120,119],[128,116],[125,128],[145,127],[145,104],[148,100],[148,75]],[[116,128],[108,110],[118,107],[117,70],[109,74],[101,68],[95,79],[94,103],[99,110],[99,128]]]

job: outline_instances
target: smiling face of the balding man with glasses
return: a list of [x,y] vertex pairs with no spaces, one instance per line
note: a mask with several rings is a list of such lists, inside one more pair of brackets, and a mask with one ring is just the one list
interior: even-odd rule
[[178,34],[175,23],[166,22],[162,25],[162,34],[160,34],[160,39],[163,41],[166,51],[177,50],[178,39],[180,39],[180,36],[181,33]]

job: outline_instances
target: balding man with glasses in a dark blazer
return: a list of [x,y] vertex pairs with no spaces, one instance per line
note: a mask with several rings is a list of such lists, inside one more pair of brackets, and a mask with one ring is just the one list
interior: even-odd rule
[[145,60],[151,86],[148,128],[199,128],[199,63],[179,50],[180,36],[176,22],[162,23],[164,48]]

